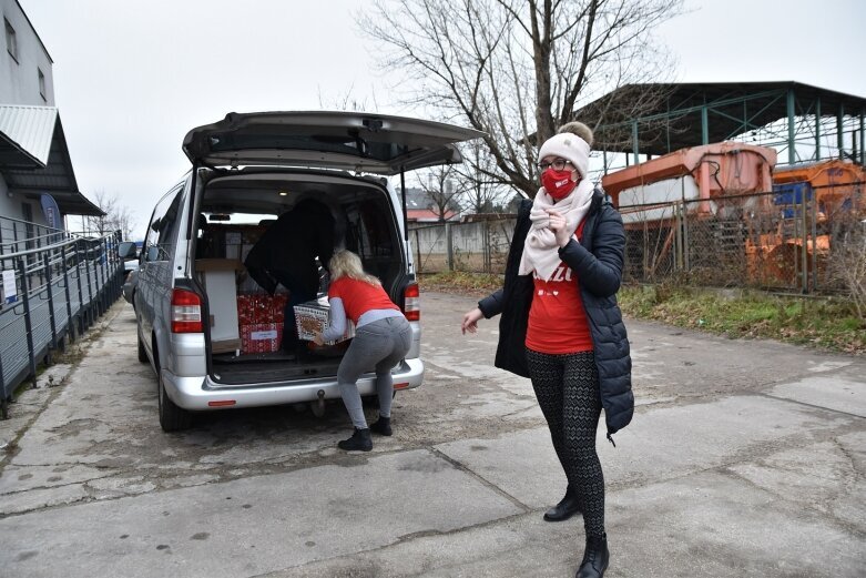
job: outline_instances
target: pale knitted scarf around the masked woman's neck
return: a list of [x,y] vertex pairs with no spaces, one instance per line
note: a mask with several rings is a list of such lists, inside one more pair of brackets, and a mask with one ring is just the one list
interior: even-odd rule
[[566,217],[566,229],[571,236],[583,217],[587,216],[592,203],[592,192],[593,186],[588,179],[581,179],[574,191],[559,202],[553,201],[543,186],[539,190],[529,213],[532,225],[523,245],[518,275],[528,275],[534,271],[540,278],[550,281],[561,260],[559,258],[557,236],[549,229],[548,210],[552,209]]

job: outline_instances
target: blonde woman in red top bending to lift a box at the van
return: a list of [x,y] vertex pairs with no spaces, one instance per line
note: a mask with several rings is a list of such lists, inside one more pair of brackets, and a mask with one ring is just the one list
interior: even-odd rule
[[[355,324],[355,337],[337,369],[337,383],[343,403],[355,432],[337,444],[340,449],[369,452],[370,430],[391,435],[391,368],[403,359],[411,345],[411,327],[400,307],[381,287],[381,282],[365,273],[360,257],[350,251],[337,251],[330,260],[330,322],[313,339],[316,345],[334,341],[346,332],[347,320]],[[358,393],[358,377],[376,369],[376,393],[379,397],[379,419],[367,426]]]

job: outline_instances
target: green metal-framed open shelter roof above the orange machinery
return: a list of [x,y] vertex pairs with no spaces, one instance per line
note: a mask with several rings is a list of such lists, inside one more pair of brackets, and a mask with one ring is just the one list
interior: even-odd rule
[[866,164],[866,98],[783,82],[626,84],[575,111],[594,126],[593,148],[662,155],[737,140],[773,146],[780,164],[846,159]]

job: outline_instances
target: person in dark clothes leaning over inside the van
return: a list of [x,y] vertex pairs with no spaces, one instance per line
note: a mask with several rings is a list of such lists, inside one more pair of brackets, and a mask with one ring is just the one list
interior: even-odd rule
[[330,261],[334,225],[334,216],[327,205],[314,199],[302,200],[294,209],[279,215],[244,261],[249,276],[271,295],[278,284],[288,290],[282,345],[286,353],[299,353],[295,305],[316,297],[319,287],[316,257],[323,264]]

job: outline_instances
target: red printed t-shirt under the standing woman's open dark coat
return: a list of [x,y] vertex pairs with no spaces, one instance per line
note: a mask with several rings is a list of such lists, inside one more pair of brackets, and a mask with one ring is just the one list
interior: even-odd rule
[[[577,231],[580,240],[583,223]],[[527,347],[540,353],[591,352],[587,312],[580,296],[578,276],[566,263],[560,262],[550,281],[534,278],[536,292],[529,310]]]

